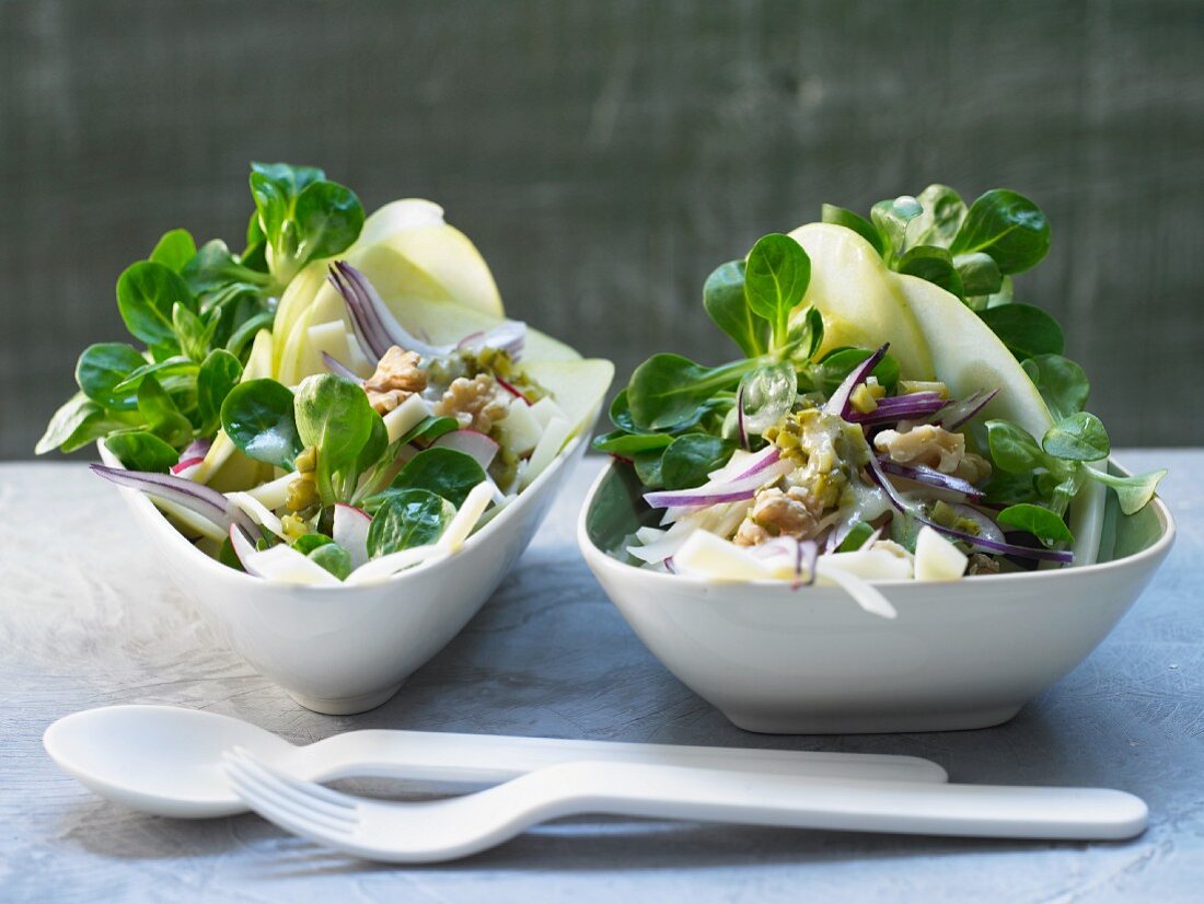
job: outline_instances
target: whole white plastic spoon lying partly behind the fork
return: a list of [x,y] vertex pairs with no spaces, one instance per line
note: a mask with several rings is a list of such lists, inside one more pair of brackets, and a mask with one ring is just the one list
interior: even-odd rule
[[358,731],[295,746],[238,719],[177,707],[84,710],[54,722],[42,743],[60,768],[101,797],[135,810],[181,819],[247,811],[222,770],[222,754],[236,746],[308,781],[372,776],[489,785],[579,760],[828,779],[949,779],[937,763],[910,756],[492,734]]

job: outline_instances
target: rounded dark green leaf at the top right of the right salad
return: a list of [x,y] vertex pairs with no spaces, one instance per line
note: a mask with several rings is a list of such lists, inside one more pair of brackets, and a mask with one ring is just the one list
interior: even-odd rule
[[1050,249],[1050,226],[1041,208],[1021,194],[992,189],[970,205],[950,246],[954,255],[986,252],[1003,273],[1035,266]]

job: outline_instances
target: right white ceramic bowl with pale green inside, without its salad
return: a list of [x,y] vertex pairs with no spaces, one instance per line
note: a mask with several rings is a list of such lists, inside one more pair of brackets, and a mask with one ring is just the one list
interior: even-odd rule
[[[1115,466],[1114,471],[1123,473]],[[1132,518],[1109,494],[1099,563],[933,584],[875,581],[898,618],[840,590],[719,584],[637,568],[627,538],[655,515],[612,465],[578,543],[649,650],[740,728],[781,734],[984,728],[1081,662],[1165,559],[1174,524],[1155,500]]]

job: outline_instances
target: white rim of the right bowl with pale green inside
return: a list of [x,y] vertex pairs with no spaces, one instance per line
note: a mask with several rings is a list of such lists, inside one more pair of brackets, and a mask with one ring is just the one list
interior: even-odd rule
[[[1117,471],[1120,471],[1122,477],[1132,475],[1131,472],[1123,466],[1121,466],[1119,462],[1116,462],[1115,459],[1109,456],[1108,462]],[[615,469],[616,463],[618,462],[615,462],[615,460],[612,457],[610,461],[607,463],[607,466],[603,467],[602,471],[598,473],[598,475],[594,479],[594,483],[590,485],[589,494],[586,494],[585,496],[585,502],[582,504],[580,514],[578,515],[577,519],[577,545],[580,548],[582,555],[585,557],[586,563],[595,572],[598,568],[607,568],[614,572],[615,574],[626,574],[630,577],[639,574],[642,579],[648,580],[654,585],[657,583],[668,581],[666,586],[671,585],[674,587],[697,587],[697,589],[702,587],[771,589],[772,587],[772,589],[785,589],[787,591],[793,590],[791,584],[780,580],[767,579],[767,580],[716,581],[716,580],[710,580],[708,578],[700,578],[689,574],[668,574],[666,572],[654,572],[649,568],[642,568],[639,566],[635,566],[628,562],[621,562],[614,556],[609,555],[606,550],[600,549],[594,543],[594,540],[590,539],[589,536],[589,527],[588,527],[589,514],[591,508],[594,507],[594,501],[597,498],[598,490],[602,488],[602,481],[606,480],[606,478],[610,474],[610,472]],[[1176,532],[1175,520],[1171,516],[1170,509],[1167,507],[1167,503],[1164,503],[1161,497],[1155,496],[1150,501],[1150,504],[1156,506],[1155,510],[1158,515],[1159,522],[1162,524],[1162,534],[1158,537],[1157,540],[1151,543],[1140,553],[1135,553],[1131,556],[1125,556],[1123,559],[1114,559],[1108,562],[1092,562],[1091,565],[1082,565],[1069,568],[1020,572],[1010,574],[976,574],[974,575],[974,583],[978,584],[979,581],[985,581],[985,583],[997,584],[1001,580],[1005,580],[1009,584],[1019,584],[1021,580],[1027,580],[1029,584],[1033,581],[1064,583],[1068,580],[1070,581],[1076,580],[1078,579],[1076,575],[1080,574],[1087,574],[1087,573],[1097,574],[1108,571],[1116,571],[1120,568],[1132,568],[1133,566],[1139,565],[1140,562],[1144,562],[1146,560],[1158,561],[1162,559],[1162,556],[1165,555],[1167,550],[1170,549],[1171,544],[1175,540],[1175,532]],[[889,580],[870,579],[868,583],[874,585],[875,587],[889,587],[889,589],[917,587],[917,586],[932,587],[934,584],[945,584],[952,587],[961,586],[960,581],[931,581],[931,580],[919,581],[915,580],[914,578],[907,578],[907,579],[892,578]]]

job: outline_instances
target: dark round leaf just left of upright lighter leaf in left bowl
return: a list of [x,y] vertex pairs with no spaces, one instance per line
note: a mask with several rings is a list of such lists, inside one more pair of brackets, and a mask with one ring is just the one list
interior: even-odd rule
[[[294,408],[288,386],[266,378],[247,380],[226,395],[222,429],[244,455],[293,471],[297,455],[307,445],[297,433]],[[320,449],[318,460],[320,463]]]

